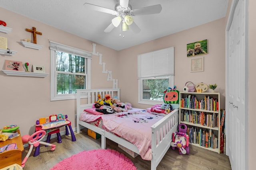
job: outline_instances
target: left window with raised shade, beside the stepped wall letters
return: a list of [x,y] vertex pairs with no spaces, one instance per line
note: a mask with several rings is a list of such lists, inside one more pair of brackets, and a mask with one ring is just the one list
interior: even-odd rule
[[51,101],[76,98],[76,89],[90,88],[92,53],[50,41]]

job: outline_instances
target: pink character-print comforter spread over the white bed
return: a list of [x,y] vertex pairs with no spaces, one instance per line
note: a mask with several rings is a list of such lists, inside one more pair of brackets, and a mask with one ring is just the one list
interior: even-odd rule
[[92,115],[84,112],[80,120],[91,122],[102,119],[106,129],[134,144],[144,160],[151,160],[151,126],[163,116],[148,113],[142,109],[132,109],[108,115]]

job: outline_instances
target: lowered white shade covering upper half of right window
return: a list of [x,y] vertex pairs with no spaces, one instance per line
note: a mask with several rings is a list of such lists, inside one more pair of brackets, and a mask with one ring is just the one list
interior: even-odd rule
[[138,55],[138,79],[174,75],[174,47]]

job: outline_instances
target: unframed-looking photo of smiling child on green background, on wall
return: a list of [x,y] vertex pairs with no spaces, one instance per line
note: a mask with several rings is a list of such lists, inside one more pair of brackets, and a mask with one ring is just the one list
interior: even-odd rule
[[187,44],[187,57],[207,54],[207,39]]

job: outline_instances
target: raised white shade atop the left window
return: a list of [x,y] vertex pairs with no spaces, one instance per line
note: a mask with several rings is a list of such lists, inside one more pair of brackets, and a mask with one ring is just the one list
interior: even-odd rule
[[62,52],[68,53],[68,54],[77,55],[79,57],[85,57],[88,59],[92,59],[92,53],[90,53],[88,51],[84,51],[84,50],[77,49],[74,47],[69,47],[67,45],[55,43],[53,41],[50,41],[49,43],[50,43],[50,50],[62,51]]

